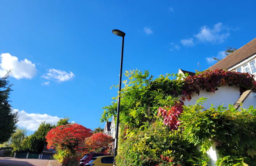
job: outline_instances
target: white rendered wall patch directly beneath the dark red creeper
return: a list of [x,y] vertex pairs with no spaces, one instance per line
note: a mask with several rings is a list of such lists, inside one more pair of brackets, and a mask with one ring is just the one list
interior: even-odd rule
[[[182,101],[182,95],[179,96]],[[200,91],[198,96],[196,93],[193,93],[193,97],[190,101],[185,97],[184,105],[194,105],[199,97],[207,97],[207,101],[204,102],[204,108],[209,109],[211,104],[215,105],[217,108],[218,105],[223,105],[223,107],[228,107],[229,104],[234,104],[237,99],[240,97],[239,87],[237,86],[221,86],[218,88],[215,93],[207,92],[205,89]],[[245,108],[245,107],[244,107]]]

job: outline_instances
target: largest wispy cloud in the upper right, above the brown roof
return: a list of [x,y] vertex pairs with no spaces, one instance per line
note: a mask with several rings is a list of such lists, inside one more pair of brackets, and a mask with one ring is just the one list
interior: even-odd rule
[[202,26],[200,32],[194,35],[201,42],[211,42],[211,43],[222,43],[229,36],[229,33],[220,33],[223,30],[227,30],[221,22],[214,25],[213,29],[207,26]]

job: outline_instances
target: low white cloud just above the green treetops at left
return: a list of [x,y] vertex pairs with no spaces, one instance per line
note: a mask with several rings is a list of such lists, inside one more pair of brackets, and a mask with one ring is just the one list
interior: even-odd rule
[[19,122],[17,123],[21,127],[26,127],[28,130],[35,131],[38,129],[41,121],[46,121],[46,123],[56,124],[60,118],[47,114],[39,114],[39,113],[26,113],[24,110],[19,111],[18,109],[14,109],[14,112],[19,114]]

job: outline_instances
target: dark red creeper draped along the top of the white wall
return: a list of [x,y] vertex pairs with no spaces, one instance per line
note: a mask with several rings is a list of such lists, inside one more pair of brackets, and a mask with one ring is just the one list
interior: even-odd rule
[[242,94],[246,90],[255,89],[256,81],[254,81],[254,75],[249,73],[231,72],[223,69],[206,70],[195,76],[188,76],[184,79],[185,85],[182,87],[182,100],[185,101],[185,97],[190,101],[193,93],[199,96],[200,90],[206,90],[207,92],[215,93],[221,86],[239,86],[240,93]]

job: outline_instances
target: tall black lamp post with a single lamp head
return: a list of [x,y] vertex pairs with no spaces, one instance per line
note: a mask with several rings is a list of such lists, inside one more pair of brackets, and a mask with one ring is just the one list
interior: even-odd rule
[[123,33],[120,30],[112,30],[112,33],[115,34],[115,35],[121,36],[123,38],[122,39],[122,51],[121,51],[119,90],[118,90],[117,126],[116,126],[115,152],[114,152],[114,158],[115,158],[116,155],[117,155],[117,143],[118,143],[119,112],[120,112],[120,91],[121,91],[121,85],[122,85],[122,68],[123,68],[123,53],[124,53],[124,36],[125,36],[125,33]]

